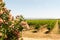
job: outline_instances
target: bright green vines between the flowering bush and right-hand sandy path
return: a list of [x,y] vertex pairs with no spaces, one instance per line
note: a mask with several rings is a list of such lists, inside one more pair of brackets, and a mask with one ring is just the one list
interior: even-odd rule
[[39,26],[43,26],[43,25],[46,25],[47,24],[47,29],[49,30],[52,30],[55,23],[56,23],[56,19],[27,19],[27,23],[30,25],[30,26],[33,26],[33,27],[38,27]]

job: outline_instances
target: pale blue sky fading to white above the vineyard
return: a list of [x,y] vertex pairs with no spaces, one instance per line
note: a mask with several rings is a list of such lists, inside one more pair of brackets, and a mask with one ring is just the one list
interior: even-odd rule
[[4,0],[13,16],[60,18],[60,0]]

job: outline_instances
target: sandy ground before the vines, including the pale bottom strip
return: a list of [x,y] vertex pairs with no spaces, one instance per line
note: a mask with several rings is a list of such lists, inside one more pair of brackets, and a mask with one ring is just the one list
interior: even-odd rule
[[[58,21],[56,21],[55,26],[58,26]],[[54,30],[57,28],[54,28]],[[53,32],[53,31],[52,31]],[[24,40],[60,40],[60,34],[44,34],[40,31],[37,33],[33,33],[32,30],[27,30],[22,32],[22,37]]]

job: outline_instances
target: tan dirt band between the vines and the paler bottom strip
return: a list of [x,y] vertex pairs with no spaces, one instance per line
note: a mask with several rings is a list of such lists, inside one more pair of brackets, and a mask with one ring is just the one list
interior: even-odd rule
[[22,33],[23,37],[29,38],[60,38],[60,34],[42,34],[42,33],[32,33],[31,31],[24,31]]

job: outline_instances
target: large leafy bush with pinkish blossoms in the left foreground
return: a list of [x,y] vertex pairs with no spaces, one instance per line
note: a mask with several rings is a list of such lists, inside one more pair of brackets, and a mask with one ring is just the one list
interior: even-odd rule
[[[9,20],[10,18],[10,10],[7,10],[4,8],[5,3],[0,3],[0,18],[3,20],[3,23],[0,24],[0,32],[2,33],[2,36],[0,37],[0,40],[17,40],[19,32],[22,32],[23,27],[20,25],[21,21],[24,21],[24,18],[22,15],[18,16],[16,19]],[[1,12],[2,10],[2,12]],[[14,23],[12,22],[14,21]],[[5,39],[5,35],[7,38]]]

